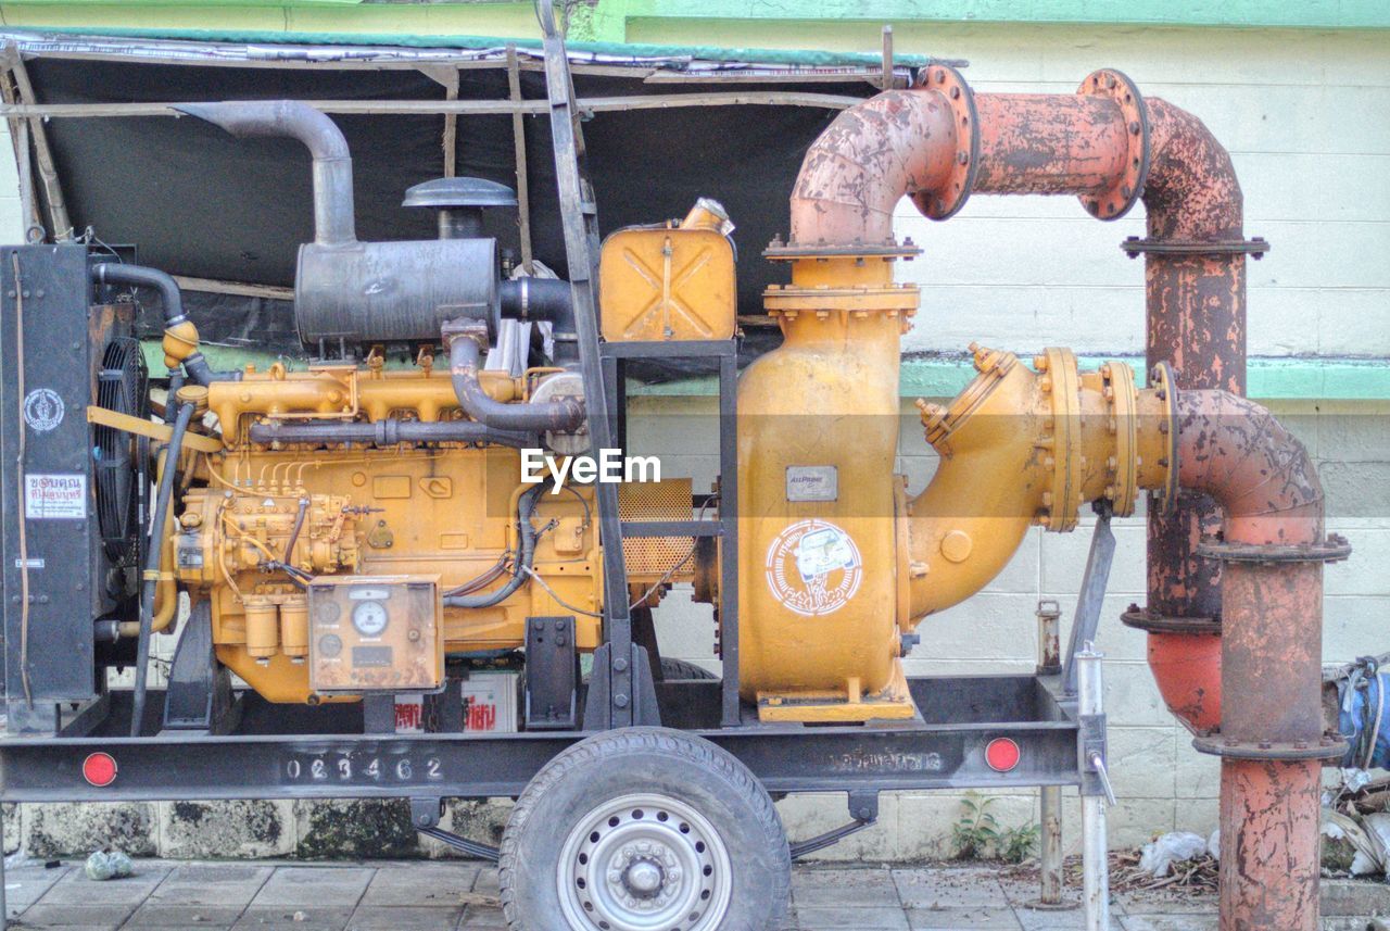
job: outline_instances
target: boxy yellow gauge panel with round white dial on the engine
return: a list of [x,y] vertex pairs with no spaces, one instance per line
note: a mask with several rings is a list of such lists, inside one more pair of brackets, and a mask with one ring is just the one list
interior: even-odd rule
[[320,695],[443,684],[438,575],[320,577],[309,584],[309,685]]

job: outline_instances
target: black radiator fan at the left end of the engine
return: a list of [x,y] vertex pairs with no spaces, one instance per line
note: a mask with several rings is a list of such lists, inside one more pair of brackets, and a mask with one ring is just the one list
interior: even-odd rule
[[[97,404],[142,420],[149,417],[147,374],[138,339],[115,336],[107,342],[96,381]],[[139,560],[138,442],[133,434],[114,427],[99,425],[93,435],[97,527],[113,566],[135,566]]]

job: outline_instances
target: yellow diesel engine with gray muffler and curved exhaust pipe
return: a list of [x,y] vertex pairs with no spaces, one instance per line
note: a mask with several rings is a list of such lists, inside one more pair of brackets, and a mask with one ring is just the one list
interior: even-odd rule
[[[523,470],[523,450],[552,464],[588,452],[570,288],[502,279],[481,211],[514,206],[512,192],[471,178],[417,185],[406,206],[438,210],[439,239],[363,243],[327,117],[289,103],[190,113],[313,153],[316,239],[300,249],[295,311],[316,360],[210,371],[167,277],[103,267],[106,282],[161,288],[165,361],[188,375],[171,397],[192,427],[153,628],[171,625],[179,586],[208,603],[224,666],[272,702],[310,705],[438,691],[448,656],[518,649],[535,617],[573,616],[575,646],[595,649],[594,488]],[[689,520],[691,482],[627,485],[620,507]],[[626,543],[634,606],[691,578],[692,547]]]

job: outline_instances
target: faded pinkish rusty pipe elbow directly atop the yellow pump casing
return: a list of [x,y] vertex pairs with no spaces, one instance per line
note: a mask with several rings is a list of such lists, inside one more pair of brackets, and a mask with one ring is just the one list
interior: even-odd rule
[[941,185],[956,149],[951,107],[935,90],[888,90],[844,110],[802,160],[791,242],[891,242],[898,200]]

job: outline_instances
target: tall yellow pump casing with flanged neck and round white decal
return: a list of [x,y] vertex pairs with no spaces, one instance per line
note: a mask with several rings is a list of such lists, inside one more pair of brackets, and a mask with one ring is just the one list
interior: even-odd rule
[[898,657],[898,353],[883,257],[796,260],[738,389],[739,677],[763,720],[909,717]]

